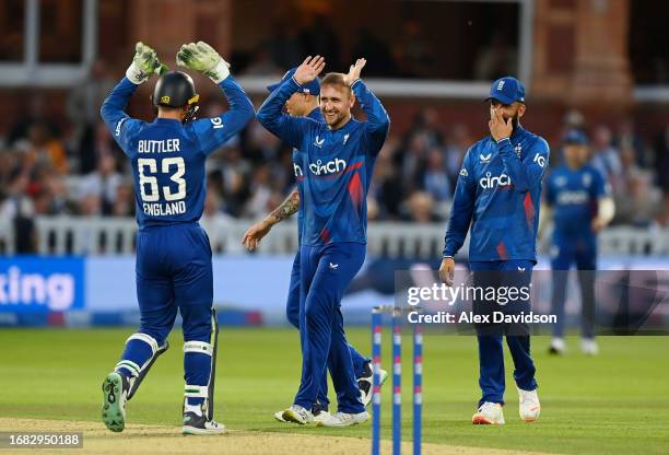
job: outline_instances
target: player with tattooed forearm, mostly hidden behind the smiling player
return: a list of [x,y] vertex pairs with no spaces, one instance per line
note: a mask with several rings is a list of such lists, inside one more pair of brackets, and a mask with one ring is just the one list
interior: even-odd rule
[[[269,85],[267,89],[271,92],[277,90],[282,82],[285,82],[287,79],[292,78],[297,68],[293,68],[283,75],[279,83]],[[308,82],[302,86],[298,92],[295,92],[291,95],[291,97],[285,102],[285,112],[292,116],[306,116],[308,118],[313,118],[316,121],[322,122],[322,114],[320,113],[320,107],[318,105],[318,96],[320,94],[320,82],[318,78],[314,79],[312,82]],[[297,212],[297,238],[298,244],[302,244],[302,231],[303,231],[303,220],[304,220],[304,211],[300,210],[300,200],[304,198],[304,175],[302,175],[302,170],[304,164],[302,163],[303,153],[293,149],[293,170],[295,172],[295,180],[297,182],[297,187],[294,189],[289,197],[270,214],[268,214],[262,221],[250,226],[242,238],[242,243],[247,247],[248,250],[255,250],[260,241],[270,232],[272,226],[277,223],[282,222],[283,220],[291,217],[293,213]],[[300,329],[300,248],[295,254],[295,258],[293,259],[293,267],[291,269],[291,282],[289,285],[289,295],[285,304],[285,314],[287,320],[297,329]],[[301,342],[304,341],[303,332],[301,332]],[[372,401],[372,364],[371,360],[363,357],[353,346],[350,346],[351,349],[351,358],[353,360],[353,370],[355,372],[355,377],[357,378],[357,386],[361,392],[362,401],[365,406],[367,406]],[[385,370],[382,370],[382,381],[388,376],[388,373]],[[314,415],[314,420],[316,422],[329,419],[329,399],[328,399],[328,377],[327,375],[322,375],[322,383],[320,388],[318,389],[318,397],[316,402],[312,406],[312,413]],[[279,421],[283,420],[283,411],[279,411],[274,413],[274,418]]]

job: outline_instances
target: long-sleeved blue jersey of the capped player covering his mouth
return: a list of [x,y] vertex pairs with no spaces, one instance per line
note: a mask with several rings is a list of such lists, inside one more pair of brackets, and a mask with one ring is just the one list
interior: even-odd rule
[[444,256],[455,256],[471,223],[469,260],[537,258],[543,138],[518,126],[510,138],[488,137],[465,155],[450,210]]

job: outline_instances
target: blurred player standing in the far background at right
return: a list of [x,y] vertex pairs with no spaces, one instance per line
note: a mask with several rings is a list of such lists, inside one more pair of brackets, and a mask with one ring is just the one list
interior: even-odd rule
[[599,351],[595,340],[595,280],[597,269],[597,233],[615,214],[610,185],[599,171],[588,164],[588,139],[580,130],[564,137],[564,164],[547,178],[544,209],[541,211],[539,233],[545,220],[553,219],[551,267],[553,269],[552,314],[558,316],[549,352],[566,351],[564,342],[564,300],[568,270],[576,265],[580,284],[582,350],[595,355]]

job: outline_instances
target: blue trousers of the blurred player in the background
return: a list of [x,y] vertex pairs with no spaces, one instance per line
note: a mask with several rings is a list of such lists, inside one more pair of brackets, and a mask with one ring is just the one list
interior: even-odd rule
[[597,269],[597,240],[556,236],[551,250],[553,269],[552,314],[558,317],[553,326],[553,336],[564,335],[564,301],[568,280],[568,270],[576,265],[580,285],[580,326],[584,338],[595,337],[595,271]]

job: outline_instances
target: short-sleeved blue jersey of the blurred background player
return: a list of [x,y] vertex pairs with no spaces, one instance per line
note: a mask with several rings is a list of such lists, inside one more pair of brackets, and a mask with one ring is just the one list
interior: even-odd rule
[[592,219],[600,198],[610,194],[599,171],[589,164],[578,170],[566,165],[555,168],[547,178],[545,202],[553,208],[555,235],[595,235]]

